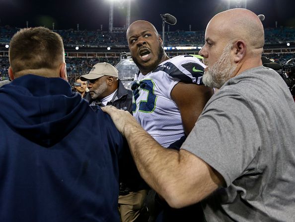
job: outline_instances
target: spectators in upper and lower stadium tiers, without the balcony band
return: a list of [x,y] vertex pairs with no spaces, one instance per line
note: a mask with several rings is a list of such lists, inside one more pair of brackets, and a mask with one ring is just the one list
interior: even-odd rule
[[[9,43],[11,37],[19,28],[0,26],[0,43]],[[65,46],[84,45],[91,46],[126,46],[125,32],[105,32],[101,30],[55,30],[59,33],[64,41]],[[161,32],[159,32],[161,33]],[[166,46],[176,45],[203,45],[204,31],[175,31],[166,32],[165,40]],[[266,28],[265,29],[265,44],[281,44],[284,42],[292,42],[295,40],[295,28]],[[268,58],[274,59],[275,62],[283,65],[289,59],[294,58],[293,53],[274,53],[264,55]],[[78,75],[88,73],[93,64],[99,62],[107,62],[116,65],[119,62],[118,57],[66,57],[68,80],[70,84],[74,83],[74,79]],[[0,56],[0,80],[8,79],[9,61],[7,56]]]

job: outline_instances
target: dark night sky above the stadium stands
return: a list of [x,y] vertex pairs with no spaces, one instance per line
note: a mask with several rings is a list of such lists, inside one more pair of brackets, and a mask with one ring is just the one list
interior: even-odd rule
[[[114,27],[126,24],[124,0],[114,3]],[[131,0],[131,22],[148,20],[160,31],[160,14],[170,13],[177,18],[170,31],[205,30],[212,16],[227,8],[227,0]],[[247,8],[256,14],[264,14],[265,27],[295,27],[295,0],[248,0]],[[96,30],[103,25],[108,30],[108,0],[0,0],[0,25],[22,28],[46,26],[55,29]],[[166,26],[167,30],[167,26]]]

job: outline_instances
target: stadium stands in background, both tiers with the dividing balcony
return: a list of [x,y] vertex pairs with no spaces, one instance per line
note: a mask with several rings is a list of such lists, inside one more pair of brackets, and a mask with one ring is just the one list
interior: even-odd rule
[[[8,79],[7,69],[8,49],[5,45],[19,28],[0,26],[0,80]],[[66,63],[68,79],[71,84],[77,75],[83,75],[90,71],[93,64],[108,62],[115,65],[119,62],[119,55],[128,49],[125,32],[104,32],[101,30],[55,30],[64,40],[66,48]],[[160,33],[160,32],[159,32]],[[293,47],[286,44],[290,42]],[[165,33],[165,46],[202,46],[204,44],[204,31],[175,31]],[[281,45],[280,45],[281,44]],[[295,58],[295,28],[279,27],[265,29],[265,53],[264,56],[273,58],[279,64],[285,64],[289,59]],[[284,46],[283,46],[284,45]],[[79,46],[82,50],[76,51]],[[117,47],[108,51],[106,47]],[[100,49],[101,48],[101,49]],[[168,51],[170,57],[179,54],[197,54],[198,49],[191,51]]]

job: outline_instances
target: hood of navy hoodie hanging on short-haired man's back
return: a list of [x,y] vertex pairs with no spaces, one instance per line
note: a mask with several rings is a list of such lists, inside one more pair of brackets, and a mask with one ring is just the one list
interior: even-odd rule
[[65,80],[31,74],[1,87],[0,104],[9,127],[45,147],[62,140],[89,109]]

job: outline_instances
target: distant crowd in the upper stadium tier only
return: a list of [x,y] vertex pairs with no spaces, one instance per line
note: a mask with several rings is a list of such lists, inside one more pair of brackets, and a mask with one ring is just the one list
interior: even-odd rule
[[[8,25],[0,27],[0,42],[8,43],[12,35],[19,28],[13,28]],[[64,41],[65,46],[84,45],[91,46],[126,46],[125,32],[106,32],[101,30],[55,30],[59,33]],[[161,34],[161,31],[159,31]],[[205,31],[174,31],[165,32],[165,45],[194,45],[199,46],[204,44]],[[265,29],[265,44],[281,44],[284,42],[295,41],[295,28],[279,27]]]

